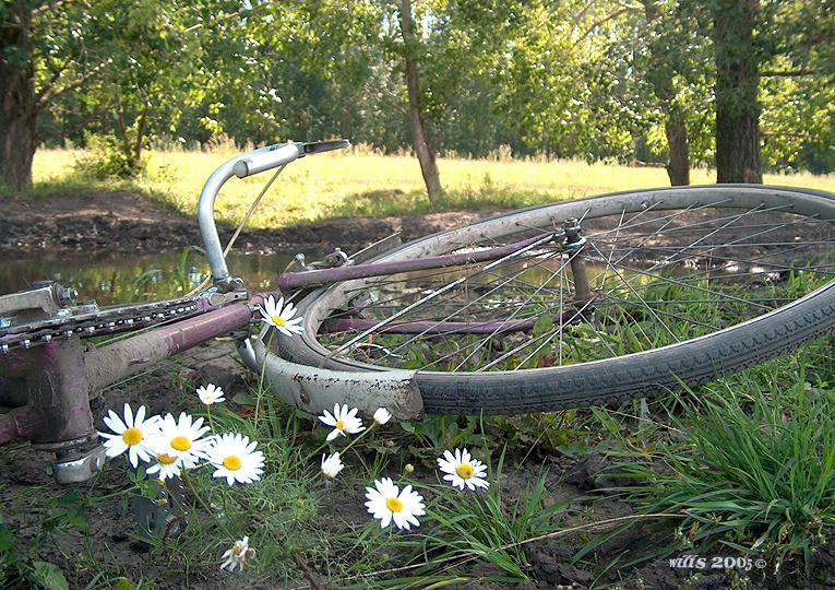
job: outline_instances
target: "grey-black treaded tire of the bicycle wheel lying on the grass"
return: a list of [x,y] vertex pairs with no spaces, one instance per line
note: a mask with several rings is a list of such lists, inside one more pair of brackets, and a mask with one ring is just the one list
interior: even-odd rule
[[[718,185],[624,191],[504,213],[469,226],[414,240],[374,260],[391,261],[397,256],[415,256],[415,252],[431,256],[437,252],[421,245],[428,246],[431,240],[437,241],[441,236],[453,236],[467,228],[478,232],[479,226],[486,227],[485,224],[506,224],[520,215],[530,216],[532,213],[545,210],[551,213],[564,210],[562,213],[570,215],[582,211],[584,206],[604,206],[612,200],[657,202],[673,196],[685,200],[730,196],[735,199],[733,203],[739,200],[776,199],[790,201],[797,211],[811,211],[825,221],[835,220],[835,196],[808,189]],[[300,312],[310,317],[314,324],[321,323],[323,318],[317,306],[333,288],[320,288],[308,294],[298,304]],[[697,386],[720,375],[786,354],[834,329],[835,281],[830,281],[816,291],[751,320],[655,350],[521,371],[418,371],[416,382],[428,413],[518,414],[584,408],[651,397],[682,386]],[[341,370],[385,370],[354,361],[330,358],[310,338],[279,338],[278,347],[283,357],[310,366]]]

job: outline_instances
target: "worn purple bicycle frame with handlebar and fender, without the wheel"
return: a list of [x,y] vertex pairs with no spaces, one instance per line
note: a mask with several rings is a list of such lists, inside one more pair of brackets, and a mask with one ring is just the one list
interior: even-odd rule
[[[98,435],[90,399],[103,388],[147,370],[160,361],[228,334],[236,335],[239,352],[248,366],[257,371],[267,369],[265,374],[281,399],[308,412],[319,412],[335,402],[348,402],[369,413],[385,405],[401,420],[418,417],[422,413],[422,401],[415,386],[414,371],[344,373],[307,367],[275,357],[260,340],[251,342],[249,327],[253,315],[266,296],[277,294],[250,294],[242,280],[231,276],[215,226],[215,201],[220,188],[232,176],[246,178],[286,166],[308,154],[347,145],[348,142],[344,140],[271,145],[237,156],[210,176],[200,196],[198,224],[214,287],[202,294],[190,317],[100,347],[83,346],[83,334],[69,332],[68,338],[0,354],[0,403],[12,406],[8,413],[0,414],[0,446],[27,440],[39,450],[56,453],[52,473],[57,481],[86,481],[100,470],[105,460],[104,450],[97,444]],[[353,279],[501,261],[552,239],[565,238],[571,248],[571,244],[577,240],[572,241],[570,232],[571,228],[556,229],[515,244],[473,252],[287,273],[278,278],[278,285],[285,295],[291,296],[298,290]],[[580,248],[574,249],[572,268],[575,258],[580,264],[578,251]],[[72,297],[68,297],[65,291],[40,287],[28,293],[0,297],[0,310],[20,306],[27,294],[35,293],[36,307],[57,314],[71,303],[69,299]],[[33,297],[29,295],[29,298]],[[350,327],[362,330],[368,328],[361,321]],[[530,321],[512,322],[508,329],[527,330],[532,327]],[[455,326],[458,331],[469,330],[473,333],[493,328],[484,323]],[[126,329],[135,328],[122,327],[114,329],[114,332]],[[0,332],[0,346],[3,345],[3,339],[8,338],[8,334]]]

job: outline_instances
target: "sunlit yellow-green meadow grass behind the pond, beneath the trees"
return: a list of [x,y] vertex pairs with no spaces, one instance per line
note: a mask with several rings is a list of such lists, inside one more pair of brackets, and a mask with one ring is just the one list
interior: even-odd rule
[[[135,181],[95,181],[73,174],[83,151],[40,150],[35,154],[34,196],[80,188],[140,190],[192,215],[208,175],[236,152],[152,151],[147,175]],[[294,162],[282,174],[252,227],[283,227],[322,219],[385,216],[429,211],[515,209],[554,200],[577,199],[616,190],[669,186],[657,167],[585,164],[575,161],[490,161],[440,158],[445,196],[431,206],[413,157],[380,155],[365,148],[321,154]],[[232,179],[217,201],[222,221],[239,222],[269,174]],[[695,169],[693,184],[711,184],[713,170]],[[772,185],[800,186],[835,192],[835,175],[766,175]]]

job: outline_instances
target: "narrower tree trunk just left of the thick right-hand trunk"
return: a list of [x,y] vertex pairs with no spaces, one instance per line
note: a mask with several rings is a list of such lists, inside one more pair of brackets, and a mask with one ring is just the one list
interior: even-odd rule
[[[644,15],[651,28],[658,27],[661,23],[658,7],[655,0],[644,0]],[[653,91],[660,103],[661,111],[666,117],[664,131],[667,135],[667,149],[669,157],[667,162],[667,176],[673,187],[690,184],[690,144],[688,143],[688,129],[684,125],[684,113],[676,104],[676,87],[672,85],[673,71],[669,64],[669,45],[663,32],[655,32],[649,38],[649,72],[648,78],[653,84]]]

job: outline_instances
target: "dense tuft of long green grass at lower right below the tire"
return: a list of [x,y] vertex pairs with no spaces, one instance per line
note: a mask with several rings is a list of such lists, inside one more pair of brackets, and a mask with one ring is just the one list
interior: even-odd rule
[[[648,444],[623,435],[625,414],[595,411],[618,438],[615,455],[629,459],[612,468],[625,485],[609,492],[639,514],[683,517],[666,523],[675,533],[668,543],[633,547],[621,566],[695,553],[764,558],[776,577],[810,573],[835,533],[831,345],[818,341],[656,403],[652,423],[660,428]],[[611,536],[593,540],[580,557]]]

